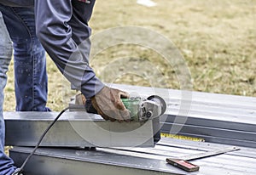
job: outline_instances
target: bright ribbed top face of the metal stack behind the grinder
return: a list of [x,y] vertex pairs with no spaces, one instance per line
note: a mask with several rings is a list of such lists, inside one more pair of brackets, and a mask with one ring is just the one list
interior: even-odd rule
[[[190,98],[182,96],[185,91],[167,89],[137,87],[131,85],[110,84],[113,88],[120,88],[130,93],[141,96],[151,94],[160,95],[166,100],[166,115],[181,116],[183,110],[189,110],[187,116],[207,118],[218,121],[234,121],[256,124],[256,98],[237,95],[190,92]],[[181,101],[190,103],[189,109],[181,108]],[[183,106],[184,107],[184,106]]]

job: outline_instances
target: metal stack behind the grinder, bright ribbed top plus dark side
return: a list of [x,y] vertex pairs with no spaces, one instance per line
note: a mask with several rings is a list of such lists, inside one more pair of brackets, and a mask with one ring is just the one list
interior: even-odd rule
[[119,84],[109,86],[141,96],[156,94],[164,98],[167,110],[160,117],[161,133],[256,148],[256,98]]

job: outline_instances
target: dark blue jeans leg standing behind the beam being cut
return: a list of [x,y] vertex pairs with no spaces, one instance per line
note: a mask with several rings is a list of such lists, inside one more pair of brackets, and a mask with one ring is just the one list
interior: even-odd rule
[[45,51],[36,37],[33,8],[0,4],[14,46],[17,111],[49,111]]

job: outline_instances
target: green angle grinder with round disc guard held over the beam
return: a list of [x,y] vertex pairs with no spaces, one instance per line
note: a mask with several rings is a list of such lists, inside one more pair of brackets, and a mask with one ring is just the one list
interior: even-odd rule
[[131,112],[131,121],[148,121],[166,112],[165,100],[157,95],[151,95],[147,99],[131,97],[122,99],[122,102]]

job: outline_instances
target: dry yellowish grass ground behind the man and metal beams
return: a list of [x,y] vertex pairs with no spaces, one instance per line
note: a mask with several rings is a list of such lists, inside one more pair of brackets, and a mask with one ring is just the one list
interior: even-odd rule
[[[154,2],[157,5],[148,8],[137,4],[137,0],[97,0],[90,20],[93,34],[125,25],[155,31],[172,41],[183,54],[193,90],[256,97],[255,0]],[[147,66],[148,63],[153,66]],[[175,69],[151,48],[119,44],[96,54],[90,64],[104,82],[181,88]],[[127,73],[127,66],[139,73]],[[4,110],[15,110],[12,68],[10,65]],[[119,73],[113,76],[106,69]],[[160,74],[151,73],[155,70]],[[48,106],[61,110],[67,106],[63,96],[70,93],[69,86],[49,58],[48,72]],[[63,93],[63,87],[67,92]]]

